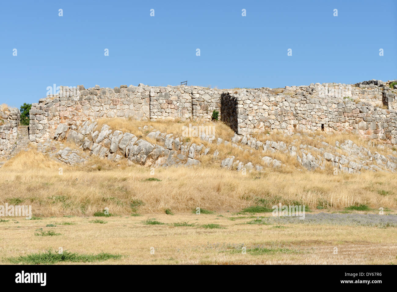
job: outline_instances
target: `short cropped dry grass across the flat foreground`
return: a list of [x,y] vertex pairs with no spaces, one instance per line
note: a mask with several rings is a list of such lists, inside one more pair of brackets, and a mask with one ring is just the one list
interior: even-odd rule
[[[249,218],[231,221],[229,217],[230,213],[156,214],[156,220],[167,225],[143,224],[148,216],[101,218],[105,224],[90,223],[95,217],[10,218],[0,223],[0,263],[9,264],[9,257],[62,247],[79,254],[122,255],[120,259],[87,264],[397,264],[397,233],[391,227],[287,224],[275,228],[244,224],[252,220]],[[184,221],[195,226],[173,226]],[[73,225],[62,225],[66,222]],[[224,229],[200,228],[211,223]],[[40,228],[61,235],[34,236]],[[242,254],[241,246],[261,246],[276,252]],[[154,254],[150,254],[151,248]]]

